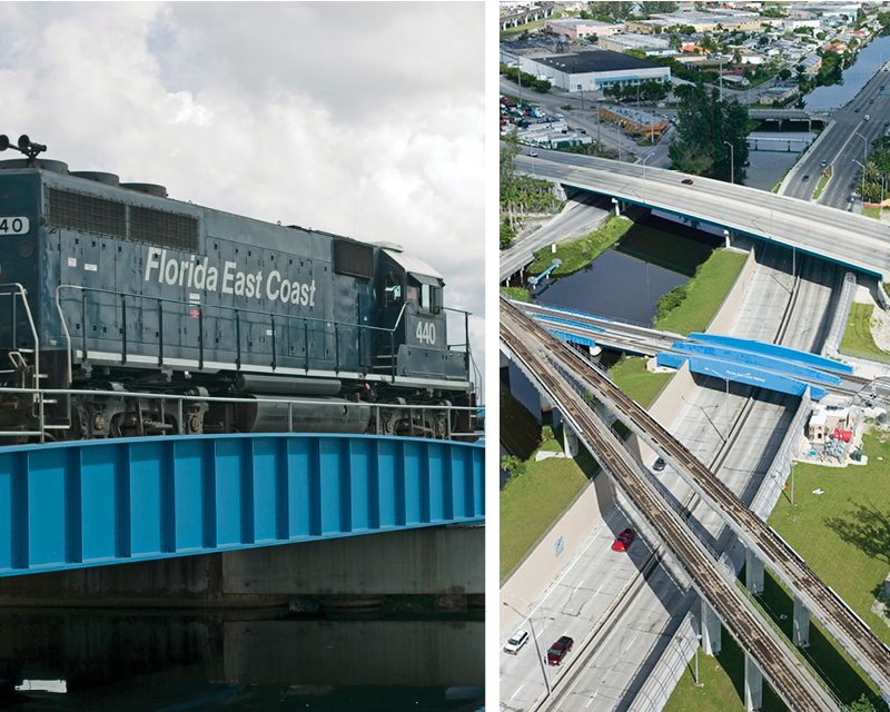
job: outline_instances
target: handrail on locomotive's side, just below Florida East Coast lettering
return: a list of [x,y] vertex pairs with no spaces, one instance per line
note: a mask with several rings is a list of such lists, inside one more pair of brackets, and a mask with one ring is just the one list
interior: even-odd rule
[[[61,319],[62,329],[65,330],[65,337],[66,337],[66,340],[67,340],[67,344],[68,344],[68,349],[67,349],[68,350],[68,383],[71,383],[71,380],[72,380],[73,368],[72,368],[72,364],[71,364],[71,337],[70,337],[70,334],[68,332],[68,325],[67,325],[67,323],[65,320],[65,314],[62,313],[62,307],[61,307],[61,290],[62,289],[80,289],[81,294],[83,294],[86,291],[93,291],[93,293],[98,293],[98,294],[108,294],[108,295],[121,297],[121,299],[126,299],[126,297],[132,297],[132,298],[137,298],[137,299],[150,299],[152,301],[157,301],[159,305],[161,303],[164,303],[164,301],[167,301],[169,304],[176,304],[176,305],[180,305],[180,306],[187,306],[187,307],[191,307],[191,308],[197,308],[198,309],[198,314],[199,314],[200,317],[204,316],[205,307],[209,307],[209,308],[214,308],[214,309],[221,309],[221,310],[227,310],[227,312],[234,312],[235,313],[235,318],[236,318],[236,330],[238,332],[238,334],[240,334],[240,328],[239,328],[240,324],[239,324],[239,320],[238,320],[238,315],[240,313],[257,314],[257,315],[263,316],[263,317],[269,317],[271,319],[273,325],[275,324],[275,317],[276,317],[275,313],[260,312],[258,309],[249,309],[249,308],[241,308],[241,307],[229,307],[229,306],[225,306],[225,305],[206,305],[206,304],[201,304],[199,301],[182,301],[181,299],[170,299],[170,298],[167,298],[167,297],[150,297],[150,296],[147,296],[147,295],[128,294],[128,293],[123,293],[123,291],[113,291],[111,289],[101,289],[101,288],[98,288],[98,287],[85,287],[83,285],[58,285],[56,287],[56,307],[57,307],[57,309],[59,312],[59,318]],[[350,323],[347,323],[347,322],[336,322],[336,320],[333,320],[333,319],[319,319],[319,318],[316,318],[316,317],[298,316],[298,315],[294,315],[294,314],[278,314],[277,316],[285,317],[288,320],[294,320],[294,319],[303,320],[304,324],[307,326],[307,328],[308,328],[308,324],[307,324],[308,322],[315,322],[315,323],[325,324],[325,325],[333,325],[334,326],[334,334],[335,334],[335,342],[337,342],[336,335],[337,335],[337,327],[338,326],[345,326],[345,327],[350,327],[350,328],[358,329],[359,330],[359,349],[360,349],[360,333],[362,333],[363,329],[372,329],[372,330],[375,330],[375,332],[382,332],[384,334],[388,333],[389,334],[389,342],[390,342],[390,350],[394,350],[394,348],[395,348],[395,342],[394,342],[395,332],[398,328],[398,325],[399,325],[399,323],[402,320],[402,317],[403,317],[403,315],[405,313],[406,307],[407,307],[407,301],[402,305],[402,310],[399,312],[398,318],[396,319],[396,324],[395,324],[395,326],[393,326],[393,328],[386,328],[386,327],[383,327],[383,326],[368,326],[368,325],[363,325],[363,324],[350,324]],[[121,308],[126,309],[126,303],[123,303],[121,305]],[[443,308],[447,308],[447,307],[443,307]],[[453,309],[453,310],[457,310],[457,309]],[[85,313],[85,319],[86,319],[86,313]],[[125,317],[125,319],[126,319],[126,317]],[[162,320],[159,322],[159,325],[160,325],[160,333],[162,334]],[[200,342],[199,342],[199,348],[201,350],[201,362],[204,360],[204,333],[202,333],[202,330],[204,329],[202,329],[202,326],[201,326],[201,335],[200,335],[201,338],[200,338]],[[83,325],[82,333],[83,333],[83,358],[87,358],[87,347],[86,347],[87,328],[86,328],[86,323]],[[239,352],[238,360],[240,360],[240,336],[238,336],[237,338],[238,338],[238,343],[237,343],[236,346],[237,346],[238,352]],[[273,338],[274,338],[274,327],[273,327]],[[468,339],[469,339],[469,335],[468,335],[468,330],[467,330],[467,342],[468,342]],[[159,344],[159,349],[162,349],[162,347],[164,347],[164,344],[162,343]],[[126,335],[125,335],[125,340],[123,340],[123,348],[125,348],[123,359],[126,362],[126,358],[127,358]],[[274,348],[274,345],[273,345],[273,348]],[[337,350],[337,349],[335,349],[335,350]],[[160,354],[159,354],[159,359],[162,359],[162,355],[160,355]],[[309,345],[308,345],[308,338],[307,338],[307,343],[306,343],[306,362],[307,362],[307,366],[306,367],[307,368],[308,368],[308,359],[309,359]],[[273,350],[273,362],[274,360],[275,360],[275,353]],[[337,364],[339,364],[339,355],[338,354],[335,355],[335,360],[337,362]],[[162,365],[162,363],[161,363],[161,365]],[[395,376],[396,376],[395,370],[396,370],[396,364],[395,364],[395,359],[393,359],[393,373],[392,373],[393,378],[395,378]]]

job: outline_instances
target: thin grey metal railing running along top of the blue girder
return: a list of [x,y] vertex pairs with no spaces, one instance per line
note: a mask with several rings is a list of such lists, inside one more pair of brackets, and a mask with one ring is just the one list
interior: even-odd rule
[[[447,423],[447,432],[445,439],[452,439],[453,437],[471,437],[476,436],[478,433],[455,433],[451,429],[451,413],[455,411],[474,411],[477,412],[479,406],[477,405],[435,405],[435,404],[400,404],[400,403],[367,403],[367,402],[356,402],[353,403],[350,400],[335,400],[335,399],[324,399],[324,398],[288,398],[288,397],[275,397],[275,396],[251,396],[250,398],[244,397],[236,397],[236,396],[200,396],[200,395],[181,395],[181,394],[171,394],[171,393],[140,393],[136,390],[93,390],[90,388],[13,388],[8,386],[1,386],[0,393],[19,393],[19,394],[29,394],[29,395],[37,395],[38,402],[40,404],[39,407],[39,423],[40,429],[39,431],[0,431],[0,436],[37,436],[40,435],[40,441],[43,441],[44,431],[49,429],[46,427],[44,416],[43,416],[43,402],[47,396],[57,396],[57,395],[89,395],[89,396],[109,396],[116,398],[146,398],[146,399],[158,399],[158,400],[176,400],[178,404],[177,414],[179,418],[180,428],[182,427],[182,403],[196,403],[196,402],[206,402],[206,403],[274,403],[280,405],[281,403],[288,404],[288,432],[293,432],[294,423],[293,423],[293,405],[330,405],[332,403],[336,403],[338,406],[343,407],[370,407],[377,415],[376,418],[376,434],[382,435],[380,431],[380,409],[383,408],[392,408],[398,411],[445,411],[448,413]],[[414,429],[414,423],[412,421],[412,433]]]

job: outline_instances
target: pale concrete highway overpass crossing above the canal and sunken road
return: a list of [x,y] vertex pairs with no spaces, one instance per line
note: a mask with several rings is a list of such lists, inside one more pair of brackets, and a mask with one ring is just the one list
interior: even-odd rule
[[[520,157],[517,170],[531,172],[531,161],[536,175],[565,186],[686,215],[890,276],[890,231],[870,218],[710,178],[557,151]],[[693,184],[683,185],[683,179]]]

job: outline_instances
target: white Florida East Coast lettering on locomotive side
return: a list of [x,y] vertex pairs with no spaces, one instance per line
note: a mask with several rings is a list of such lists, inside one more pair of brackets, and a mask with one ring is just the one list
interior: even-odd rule
[[[236,271],[237,263],[224,263],[222,274],[216,267],[208,267],[207,257],[199,260],[196,255],[189,259],[167,258],[167,250],[160,247],[148,248],[148,260],[146,263],[145,281],[152,277],[152,270],[157,269],[158,284],[178,285],[189,289],[204,289],[205,291],[221,291],[222,294],[234,294],[239,297],[257,299],[263,294],[264,275],[263,270],[256,273]],[[273,269],[266,277],[266,297],[273,301],[283,304],[296,304],[300,306],[315,306],[315,279],[303,283],[289,281],[281,277],[277,269]]]

